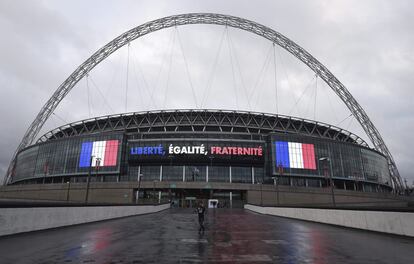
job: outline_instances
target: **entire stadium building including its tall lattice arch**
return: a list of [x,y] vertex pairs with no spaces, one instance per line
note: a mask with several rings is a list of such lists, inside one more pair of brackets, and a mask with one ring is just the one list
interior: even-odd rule
[[[189,24],[248,31],[285,49],[335,92],[370,145],[345,129],[315,120],[199,109],[197,104],[192,110],[89,118],[38,136],[71,89],[112,53],[143,35]],[[27,129],[9,164],[0,198],[85,203],[150,199],[183,207],[199,199],[216,199],[222,206],[232,207],[244,203],[385,206],[398,202],[395,193],[403,189],[396,163],[377,128],[346,87],[316,58],[256,22],[193,13],[133,28],[82,63]]]

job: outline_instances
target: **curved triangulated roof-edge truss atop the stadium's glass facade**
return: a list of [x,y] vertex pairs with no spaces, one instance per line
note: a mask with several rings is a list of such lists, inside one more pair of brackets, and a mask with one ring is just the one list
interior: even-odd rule
[[37,142],[114,131],[247,134],[282,132],[328,138],[368,147],[368,144],[357,135],[320,122],[275,114],[201,109],[149,111],[91,118],[58,127],[41,136]]

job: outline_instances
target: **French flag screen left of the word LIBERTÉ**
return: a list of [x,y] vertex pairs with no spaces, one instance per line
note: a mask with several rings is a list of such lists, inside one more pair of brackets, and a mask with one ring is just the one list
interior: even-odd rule
[[[79,167],[116,166],[118,159],[118,140],[87,141],[82,143]],[[99,162],[97,160],[99,159]]]

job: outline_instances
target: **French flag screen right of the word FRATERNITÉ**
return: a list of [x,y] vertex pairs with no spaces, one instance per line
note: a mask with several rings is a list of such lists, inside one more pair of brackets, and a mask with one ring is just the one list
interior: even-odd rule
[[316,170],[313,144],[276,141],[276,166]]

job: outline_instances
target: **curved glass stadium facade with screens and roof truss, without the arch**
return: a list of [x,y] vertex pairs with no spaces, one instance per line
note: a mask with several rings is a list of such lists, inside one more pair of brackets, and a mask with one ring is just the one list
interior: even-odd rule
[[386,158],[358,136],[264,113],[172,110],[67,124],[17,155],[10,184],[274,183],[390,191]]

